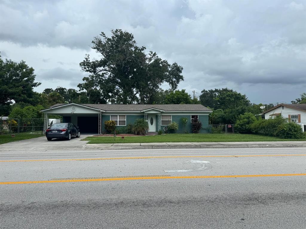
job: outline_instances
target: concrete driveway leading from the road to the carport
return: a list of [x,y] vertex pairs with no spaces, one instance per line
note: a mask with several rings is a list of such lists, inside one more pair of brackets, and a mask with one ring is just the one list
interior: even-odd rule
[[48,141],[46,136],[43,136],[1,144],[0,151],[82,150],[88,141],[81,140],[88,136],[92,135],[82,134],[79,138],[72,137],[70,141],[65,139]]

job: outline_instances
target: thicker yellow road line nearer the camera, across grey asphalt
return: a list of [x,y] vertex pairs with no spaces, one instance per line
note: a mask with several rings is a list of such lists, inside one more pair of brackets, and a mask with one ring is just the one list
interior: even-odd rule
[[306,176],[306,173],[228,175],[228,176],[143,176],[143,177],[114,177],[114,178],[102,178],[102,179],[80,179],[80,180],[37,180],[37,181],[0,182],[0,185],[1,184],[41,184],[41,183],[88,182],[88,181],[110,181],[110,180],[197,179],[197,178],[271,177],[271,176]]

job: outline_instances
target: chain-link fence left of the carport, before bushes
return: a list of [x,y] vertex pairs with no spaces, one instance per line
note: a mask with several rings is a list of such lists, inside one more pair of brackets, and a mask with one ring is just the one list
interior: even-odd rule
[[1,134],[43,134],[44,133],[43,118],[0,118]]

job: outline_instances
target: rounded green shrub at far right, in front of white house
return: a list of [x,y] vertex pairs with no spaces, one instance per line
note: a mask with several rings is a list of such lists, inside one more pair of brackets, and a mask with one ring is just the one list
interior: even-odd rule
[[281,138],[303,138],[301,126],[294,122],[287,122],[279,125],[275,132],[275,135]]

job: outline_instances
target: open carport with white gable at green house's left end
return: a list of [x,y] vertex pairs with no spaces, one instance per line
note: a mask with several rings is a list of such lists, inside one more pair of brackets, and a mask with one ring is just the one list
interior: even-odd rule
[[102,110],[88,107],[83,104],[54,105],[48,109],[41,110],[44,116],[44,129],[48,128],[48,116],[60,115],[63,122],[71,122],[80,128],[81,133],[101,134]]

